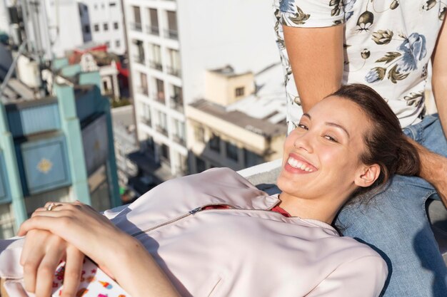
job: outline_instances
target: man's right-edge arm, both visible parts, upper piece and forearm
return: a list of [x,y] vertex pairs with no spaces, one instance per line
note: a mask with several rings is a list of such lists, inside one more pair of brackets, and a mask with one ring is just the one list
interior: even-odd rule
[[[433,64],[431,86],[444,135],[447,132],[447,29],[444,29],[445,24],[446,21],[443,22],[436,48],[431,56]],[[416,148],[421,157],[419,175],[436,187],[444,205],[447,206],[447,158],[430,152],[422,145],[416,144]]]

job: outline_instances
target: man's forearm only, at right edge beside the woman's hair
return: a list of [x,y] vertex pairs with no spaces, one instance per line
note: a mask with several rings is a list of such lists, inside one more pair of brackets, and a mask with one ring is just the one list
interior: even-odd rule
[[447,158],[427,150],[411,138],[408,140],[416,147],[421,159],[419,176],[435,187],[444,206],[447,207]]

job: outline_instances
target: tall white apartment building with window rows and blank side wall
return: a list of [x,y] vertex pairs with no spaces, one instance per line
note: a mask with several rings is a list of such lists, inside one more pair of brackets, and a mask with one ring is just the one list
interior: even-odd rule
[[183,175],[185,105],[205,98],[206,71],[256,73],[278,61],[271,4],[124,0],[124,12],[139,141],[171,176]]

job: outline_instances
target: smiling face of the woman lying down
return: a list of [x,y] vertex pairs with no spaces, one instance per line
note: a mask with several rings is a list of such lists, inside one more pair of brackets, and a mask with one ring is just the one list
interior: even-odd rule
[[359,156],[369,126],[356,103],[321,100],[286,138],[278,187],[302,199],[347,198],[364,168]]

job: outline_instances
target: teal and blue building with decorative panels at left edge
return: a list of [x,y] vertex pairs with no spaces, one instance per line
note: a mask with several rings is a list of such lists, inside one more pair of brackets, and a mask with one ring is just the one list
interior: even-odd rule
[[51,73],[50,95],[36,98],[16,78],[1,94],[3,238],[14,236],[19,224],[48,201],[77,199],[98,210],[121,204],[109,99],[101,95],[99,73],[82,73],[66,59],[54,60]]

